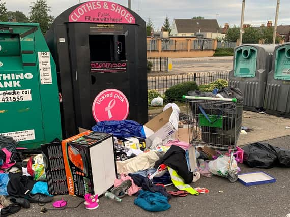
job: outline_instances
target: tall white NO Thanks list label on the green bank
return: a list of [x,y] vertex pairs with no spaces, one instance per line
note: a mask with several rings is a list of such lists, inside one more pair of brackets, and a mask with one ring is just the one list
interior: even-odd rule
[[38,52],[40,84],[52,84],[50,52]]

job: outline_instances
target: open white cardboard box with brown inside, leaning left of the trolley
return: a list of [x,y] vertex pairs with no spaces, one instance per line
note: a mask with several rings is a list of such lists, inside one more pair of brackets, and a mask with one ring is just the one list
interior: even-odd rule
[[166,109],[144,125],[147,139],[153,141],[156,137],[164,140],[178,129],[179,115],[172,107]]

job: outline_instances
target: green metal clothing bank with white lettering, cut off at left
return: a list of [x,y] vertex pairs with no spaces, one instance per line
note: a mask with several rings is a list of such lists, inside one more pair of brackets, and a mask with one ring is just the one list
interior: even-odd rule
[[58,93],[39,24],[0,22],[0,135],[28,149],[61,140]]

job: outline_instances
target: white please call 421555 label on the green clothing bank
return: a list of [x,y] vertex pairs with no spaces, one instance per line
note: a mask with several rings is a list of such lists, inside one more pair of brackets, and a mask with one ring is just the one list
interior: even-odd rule
[[31,89],[0,91],[0,103],[32,101]]

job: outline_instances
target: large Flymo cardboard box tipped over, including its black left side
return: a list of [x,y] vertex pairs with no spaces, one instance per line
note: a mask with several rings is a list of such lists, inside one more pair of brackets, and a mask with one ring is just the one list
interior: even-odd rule
[[83,197],[101,195],[117,178],[112,134],[85,131],[41,146],[49,193]]

